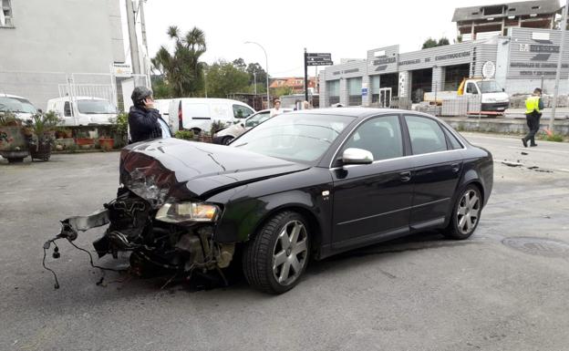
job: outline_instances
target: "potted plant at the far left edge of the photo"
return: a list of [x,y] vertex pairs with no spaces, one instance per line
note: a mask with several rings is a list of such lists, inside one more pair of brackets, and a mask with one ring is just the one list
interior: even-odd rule
[[8,162],[22,162],[28,155],[22,121],[9,112],[0,112],[0,155]]

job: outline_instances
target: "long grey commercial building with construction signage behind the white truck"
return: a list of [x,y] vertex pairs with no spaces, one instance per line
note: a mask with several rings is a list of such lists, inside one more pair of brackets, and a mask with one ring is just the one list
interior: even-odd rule
[[[561,46],[561,31],[552,29],[561,10],[558,1],[495,5],[493,11],[488,7],[456,9],[459,32],[467,36],[465,28],[470,26],[471,40],[407,53],[400,53],[398,45],[384,46],[368,50],[365,59],[326,67],[320,72],[321,106],[389,106],[394,98],[419,102],[426,92],[456,90],[464,77],[482,77],[483,67],[495,68],[494,78],[510,95],[527,94],[536,87],[553,92]],[[506,21],[516,18],[517,26]],[[500,28],[494,30],[498,22]],[[564,47],[560,94],[566,95],[569,36]]]

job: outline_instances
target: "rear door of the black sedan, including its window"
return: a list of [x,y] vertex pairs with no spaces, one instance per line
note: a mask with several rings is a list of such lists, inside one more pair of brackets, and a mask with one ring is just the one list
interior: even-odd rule
[[415,167],[410,227],[420,231],[439,226],[450,212],[462,171],[462,146],[435,119],[405,114],[404,120]]

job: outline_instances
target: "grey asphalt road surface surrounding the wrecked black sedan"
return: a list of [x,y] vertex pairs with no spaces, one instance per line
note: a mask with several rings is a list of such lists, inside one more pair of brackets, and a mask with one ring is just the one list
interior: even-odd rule
[[58,220],[113,198],[119,154],[0,160],[0,350],[569,349],[569,144],[465,135],[496,160],[470,240],[430,232],[311,263],[280,296],[119,274],[98,286],[67,243],[47,259],[54,290],[42,244]]

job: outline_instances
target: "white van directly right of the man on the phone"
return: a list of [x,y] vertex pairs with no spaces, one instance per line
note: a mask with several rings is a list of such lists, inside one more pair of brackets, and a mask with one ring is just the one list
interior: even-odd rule
[[172,98],[168,123],[172,132],[192,129],[210,131],[213,121],[233,124],[253,115],[249,105],[229,98]]

